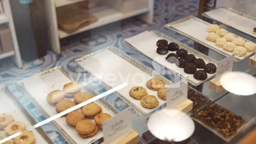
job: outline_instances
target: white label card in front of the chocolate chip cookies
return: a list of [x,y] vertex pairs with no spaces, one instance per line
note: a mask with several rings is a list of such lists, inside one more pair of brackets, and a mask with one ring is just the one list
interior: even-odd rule
[[172,109],[180,102],[188,99],[188,79],[182,79],[179,83],[170,86],[166,92],[166,108]]

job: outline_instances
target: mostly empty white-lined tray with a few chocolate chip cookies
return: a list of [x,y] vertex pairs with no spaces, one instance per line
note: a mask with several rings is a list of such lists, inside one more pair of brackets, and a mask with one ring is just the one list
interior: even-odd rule
[[116,93],[141,115],[162,106],[166,102],[166,87],[173,84],[114,46],[86,55],[76,62],[108,87],[127,83]]

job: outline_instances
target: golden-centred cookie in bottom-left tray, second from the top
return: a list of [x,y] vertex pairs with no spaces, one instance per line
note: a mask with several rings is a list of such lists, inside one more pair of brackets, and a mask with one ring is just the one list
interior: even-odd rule
[[4,128],[4,131],[6,132],[7,135],[12,135],[17,132],[21,132],[25,130],[26,130],[26,125],[21,122],[11,122],[9,125],[7,125]]

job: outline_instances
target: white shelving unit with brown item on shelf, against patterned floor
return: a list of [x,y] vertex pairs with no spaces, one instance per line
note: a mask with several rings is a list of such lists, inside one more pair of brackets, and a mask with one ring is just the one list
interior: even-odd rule
[[[57,15],[56,15],[56,9],[60,6],[74,4],[77,2],[81,2],[83,0],[46,0],[45,1],[45,12],[46,12],[46,19],[47,19],[47,25],[49,27],[48,31],[50,34],[50,41],[51,41],[51,47],[53,51],[60,53],[60,39],[65,38],[71,35],[75,35],[78,33],[82,33],[83,31],[90,30],[93,28],[97,28],[100,26],[107,25],[112,22],[116,22],[119,20],[123,20],[126,18],[134,17],[135,15],[141,15],[141,19],[148,22],[153,23],[153,14],[154,14],[154,0],[147,0],[148,6],[143,7],[141,9],[122,13],[117,11],[116,9],[108,6],[103,5],[96,7],[94,9],[90,10],[90,14],[94,15],[98,18],[97,22],[92,23],[89,26],[85,26],[81,29],[78,29],[74,33],[67,34],[64,31],[61,31],[58,29],[58,22],[57,22]],[[119,1],[119,0],[117,0]],[[121,1],[121,0],[120,0]],[[106,1],[107,2],[107,1]]]

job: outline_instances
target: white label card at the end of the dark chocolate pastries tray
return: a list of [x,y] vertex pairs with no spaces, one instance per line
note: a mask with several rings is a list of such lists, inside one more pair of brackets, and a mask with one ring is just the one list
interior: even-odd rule
[[217,66],[215,81],[219,81],[222,74],[232,71],[233,63],[234,55],[230,55],[229,57],[221,60]]

